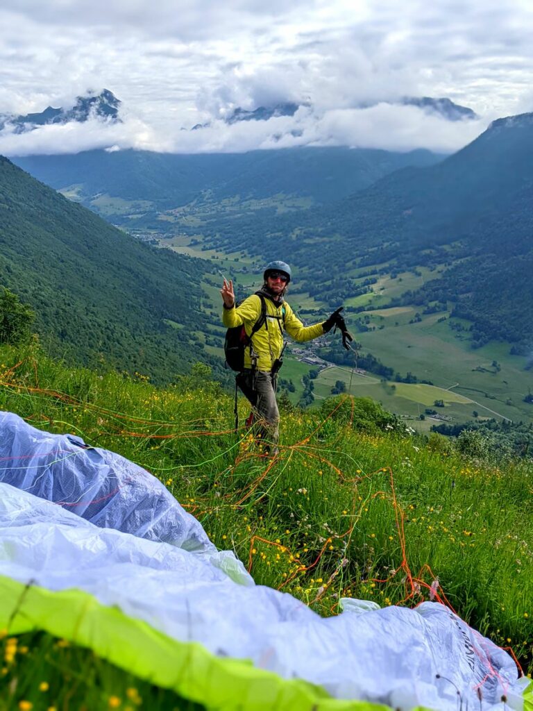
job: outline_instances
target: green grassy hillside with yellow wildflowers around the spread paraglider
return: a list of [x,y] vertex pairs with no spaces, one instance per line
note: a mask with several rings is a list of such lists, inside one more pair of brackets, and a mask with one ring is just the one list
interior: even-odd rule
[[[281,455],[264,459],[249,433],[232,431],[232,398],[206,377],[198,366],[158,390],[68,370],[35,346],[4,347],[0,408],[149,469],[260,584],[323,615],[336,614],[340,597],[414,606],[434,584],[437,599],[532,672],[531,461],[473,459],[438,435],[413,437],[370,401],[342,396],[309,412],[287,405]],[[242,400],[239,407],[243,422],[247,407]],[[31,636],[18,644],[45,670],[50,703],[70,694],[94,708],[112,696],[126,705],[131,688],[154,699],[150,708],[179,703],[75,646],[50,665],[58,641]],[[83,678],[73,677],[80,661]],[[43,699],[40,676],[18,675],[25,664],[18,653],[6,666],[4,676],[19,682],[0,685],[0,705]]]

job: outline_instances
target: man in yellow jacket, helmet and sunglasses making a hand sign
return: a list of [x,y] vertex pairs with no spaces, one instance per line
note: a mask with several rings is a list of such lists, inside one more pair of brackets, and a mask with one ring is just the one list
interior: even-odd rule
[[[279,410],[276,402],[278,371],[284,351],[284,330],[295,341],[311,341],[338,326],[343,332],[343,343],[352,341],[345,321],[337,309],[327,321],[315,326],[303,326],[285,301],[287,286],[291,281],[291,267],[285,262],[270,262],[263,274],[262,289],[248,296],[236,306],[233,282],[224,279],[220,290],[224,311],[222,323],[227,328],[244,326],[249,345],[244,349],[244,368],[237,375],[237,385],[252,404],[252,413],[259,420],[259,437],[262,437],[267,454],[277,454],[279,439]],[[264,324],[252,333],[262,316],[262,302],[266,306]],[[253,417],[250,418],[250,421]]]

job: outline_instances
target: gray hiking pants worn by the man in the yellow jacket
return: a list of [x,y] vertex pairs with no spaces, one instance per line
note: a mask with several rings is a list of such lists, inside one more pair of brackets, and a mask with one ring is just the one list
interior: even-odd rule
[[237,385],[254,409],[259,435],[266,442],[265,446],[274,449],[279,440],[278,376],[265,370],[244,370],[237,375]]

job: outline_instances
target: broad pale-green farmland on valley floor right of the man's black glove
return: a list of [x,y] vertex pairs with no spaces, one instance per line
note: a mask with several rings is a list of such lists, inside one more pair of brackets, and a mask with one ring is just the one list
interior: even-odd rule
[[[318,375],[316,396],[327,397],[335,382],[342,380],[352,395],[372,397],[398,415],[419,417],[426,407],[434,409],[435,400],[443,400],[444,407],[437,409],[438,414],[452,422],[473,419],[473,412],[478,412],[480,419],[531,421],[533,408],[523,402],[529,382],[524,370],[526,359],[509,355],[508,346],[501,343],[473,351],[468,341],[453,336],[447,324],[436,323],[440,316],[431,314],[418,324],[386,326],[357,334],[363,351],[370,351],[402,375],[411,372],[434,385],[384,383],[372,373],[365,378],[352,374],[347,366],[335,366]],[[347,321],[350,327],[350,319]],[[492,366],[494,362],[497,368]],[[427,429],[427,423],[427,419],[417,422],[416,427]]]

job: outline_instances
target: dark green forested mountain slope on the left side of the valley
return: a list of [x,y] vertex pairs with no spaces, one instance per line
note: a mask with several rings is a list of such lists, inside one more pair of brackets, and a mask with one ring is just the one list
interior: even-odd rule
[[209,360],[189,338],[205,320],[202,260],[131,239],[3,157],[0,215],[0,286],[33,306],[54,353],[158,381]]

